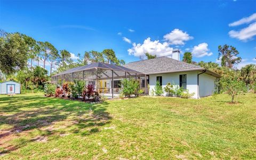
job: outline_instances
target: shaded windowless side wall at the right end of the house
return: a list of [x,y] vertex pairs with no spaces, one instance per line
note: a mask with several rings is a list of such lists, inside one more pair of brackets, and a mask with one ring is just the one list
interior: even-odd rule
[[199,75],[199,97],[212,95],[217,77],[201,74]]

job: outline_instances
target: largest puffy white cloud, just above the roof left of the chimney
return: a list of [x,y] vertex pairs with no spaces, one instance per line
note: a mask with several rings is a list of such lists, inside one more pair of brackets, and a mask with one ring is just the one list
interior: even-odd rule
[[161,43],[159,40],[151,41],[150,37],[144,40],[143,44],[132,44],[133,47],[129,50],[129,55],[134,55],[140,59],[146,59],[145,53],[156,55],[157,57],[172,55],[173,48],[167,42]]

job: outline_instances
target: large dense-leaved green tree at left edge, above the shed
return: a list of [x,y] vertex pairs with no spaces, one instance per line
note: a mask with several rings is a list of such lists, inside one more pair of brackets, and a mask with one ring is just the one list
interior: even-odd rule
[[0,37],[0,70],[13,74],[27,65],[28,46],[20,34],[7,34]]

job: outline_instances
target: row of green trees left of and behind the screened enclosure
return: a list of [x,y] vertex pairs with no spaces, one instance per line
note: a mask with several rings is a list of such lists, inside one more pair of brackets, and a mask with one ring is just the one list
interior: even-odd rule
[[[0,81],[15,80],[27,89],[40,87],[49,81],[53,74],[67,69],[84,66],[94,62],[104,62],[114,65],[124,65],[125,61],[118,59],[113,49],[102,52],[86,51],[78,53],[77,61],[72,59],[69,51],[58,50],[50,42],[36,41],[21,33],[6,33],[0,29]],[[50,74],[45,69],[50,68]],[[42,66],[42,67],[41,67]]]

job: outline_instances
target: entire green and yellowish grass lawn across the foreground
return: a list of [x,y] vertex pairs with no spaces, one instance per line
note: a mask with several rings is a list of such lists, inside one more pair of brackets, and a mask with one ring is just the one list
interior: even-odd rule
[[255,159],[256,94],[229,101],[0,95],[0,159]]

